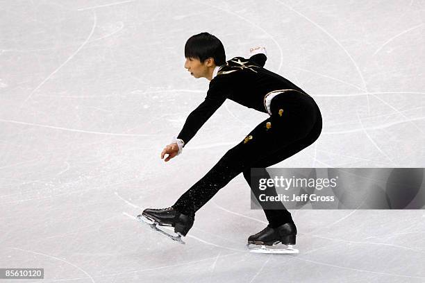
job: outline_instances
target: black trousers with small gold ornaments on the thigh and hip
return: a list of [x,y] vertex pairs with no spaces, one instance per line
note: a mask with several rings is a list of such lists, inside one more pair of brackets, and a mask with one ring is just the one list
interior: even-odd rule
[[[201,180],[178,198],[173,205],[174,209],[194,217],[198,209],[240,173],[244,174],[250,187],[251,184],[258,184],[258,180],[251,180],[251,168],[263,168],[252,178],[270,178],[266,167],[310,146],[322,132],[322,115],[308,94],[297,91],[278,94],[272,99],[271,111],[272,115],[268,119],[227,151]],[[270,189],[272,192],[267,191],[266,194],[276,195],[276,189]],[[251,190],[258,199],[258,185],[253,185]],[[271,227],[292,221],[290,212],[282,203],[272,209],[263,209]]]

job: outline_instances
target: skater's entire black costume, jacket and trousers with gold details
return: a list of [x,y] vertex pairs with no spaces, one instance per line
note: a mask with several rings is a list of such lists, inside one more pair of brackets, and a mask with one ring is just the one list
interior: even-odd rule
[[[186,119],[177,137],[183,139],[185,145],[226,98],[268,113],[265,96],[282,92],[272,98],[270,117],[231,148],[177,200],[173,207],[179,212],[194,217],[198,209],[240,173],[244,174],[251,186],[252,167],[265,168],[281,162],[313,144],[319,137],[322,116],[313,98],[289,80],[264,69],[266,60],[263,53],[253,55],[248,60],[242,57],[228,60],[210,81],[205,101]],[[256,178],[270,177],[264,170],[264,174],[256,175]],[[258,188],[252,189],[253,194],[258,196]],[[292,222],[291,214],[283,204],[276,209],[265,209],[265,214],[272,228]]]

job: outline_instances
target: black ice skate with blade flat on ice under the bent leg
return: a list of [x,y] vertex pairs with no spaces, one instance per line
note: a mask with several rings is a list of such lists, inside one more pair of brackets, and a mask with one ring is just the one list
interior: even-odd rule
[[262,231],[249,236],[247,247],[250,252],[298,253],[299,250],[292,248],[296,242],[296,235],[297,227],[293,222],[277,228],[267,225]]

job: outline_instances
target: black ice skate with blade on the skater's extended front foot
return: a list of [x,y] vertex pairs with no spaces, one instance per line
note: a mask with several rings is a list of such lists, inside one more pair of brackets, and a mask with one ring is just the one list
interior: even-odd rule
[[[144,209],[142,214],[136,216],[139,221],[147,223],[153,230],[163,234],[174,241],[179,243],[185,243],[181,237],[188,234],[190,228],[192,228],[194,219],[181,214],[173,207],[167,208],[147,208]],[[158,226],[169,226],[174,228],[174,233],[171,230],[160,229]]]

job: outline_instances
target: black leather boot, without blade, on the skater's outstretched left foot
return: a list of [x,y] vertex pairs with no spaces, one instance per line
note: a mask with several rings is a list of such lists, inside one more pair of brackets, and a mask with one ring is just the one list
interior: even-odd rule
[[181,214],[173,207],[160,209],[147,208],[142,212],[142,216],[149,218],[160,226],[172,226],[174,227],[174,232],[182,236],[188,234],[194,221],[194,218]]

